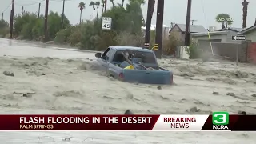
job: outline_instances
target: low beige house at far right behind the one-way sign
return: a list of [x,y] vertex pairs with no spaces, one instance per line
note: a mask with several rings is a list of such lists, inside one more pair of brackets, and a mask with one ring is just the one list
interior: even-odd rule
[[212,32],[192,34],[192,38],[194,41],[198,42],[209,42],[210,37],[210,42],[234,43],[236,41],[232,40],[232,36],[238,34],[245,35],[246,41],[248,42],[256,42],[256,25],[246,29],[228,27]]

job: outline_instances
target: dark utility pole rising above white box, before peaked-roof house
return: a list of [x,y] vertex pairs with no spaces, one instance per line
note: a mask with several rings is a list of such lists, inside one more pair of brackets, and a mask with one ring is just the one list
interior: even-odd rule
[[187,10],[186,10],[185,46],[190,46],[190,16],[191,16],[191,4],[192,4],[192,0],[188,0],[188,2],[187,2]]

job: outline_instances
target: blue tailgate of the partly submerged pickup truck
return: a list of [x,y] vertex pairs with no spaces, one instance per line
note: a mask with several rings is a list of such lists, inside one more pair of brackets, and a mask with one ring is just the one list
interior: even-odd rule
[[172,84],[173,74],[168,70],[123,70],[124,82]]

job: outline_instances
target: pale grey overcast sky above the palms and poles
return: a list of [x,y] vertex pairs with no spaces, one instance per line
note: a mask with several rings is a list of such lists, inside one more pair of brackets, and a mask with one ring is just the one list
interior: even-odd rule
[[[100,1],[100,0],[95,0]],[[128,0],[126,0],[128,1]],[[215,22],[215,17],[217,14],[226,13],[230,14],[233,18],[233,27],[242,27],[242,2],[243,0],[193,0],[191,19],[197,20],[194,22],[196,25],[202,25],[206,28],[209,26],[221,27],[220,24]],[[247,16],[247,26],[254,25],[256,18],[256,0],[247,0],[249,2],[248,6],[248,16]],[[6,20],[10,19],[10,2],[11,0],[0,0],[0,11],[4,10],[4,18]],[[38,11],[38,3],[41,2],[41,14],[44,14],[45,0],[15,0],[14,14],[21,13],[22,6],[26,11]],[[89,6],[90,0],[66,0],[65,14],[66,17],[70,19],[72,24],[79,22],[80,11],[78,9],[78,3],[85,2],[86,10],[82,11],[83,19],[93,19],[93,8]],[[122,0],[114,0],[115,3],[122,2]],[[147,0],[146,0],[147,2]],[[157,3],[157,2],[156,2]],[[164,24],[170,26],[169,22],[184,23],[186,22],[186,5],[187,0],[165,0],[165,10],[164,10]],[[8,7],[10,6],[10,7]],[[108,6],[111,3],[108,0]],[[62,13],[62,0],[50,0],[50,10],[58,13]],[[146,18],[147,3],[142,6],[142,11],[144,18]],[[101,14],[102,10],[99,10]],[[153,22],[156,21],[156,8],[154,10]]]

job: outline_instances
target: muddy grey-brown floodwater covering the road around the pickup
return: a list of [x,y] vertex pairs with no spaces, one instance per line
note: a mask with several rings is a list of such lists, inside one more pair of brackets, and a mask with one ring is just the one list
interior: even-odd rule
[[[256,112],[256,66],[163,58],[174,86],[132,84],[92,68],[94,53],[0,39],[1,114]],[[9,71],[13,77],[3,74]],[[27,97],[22,97],[28,94]],[[3,143],[254,144],[255,132],[1,131]]]

